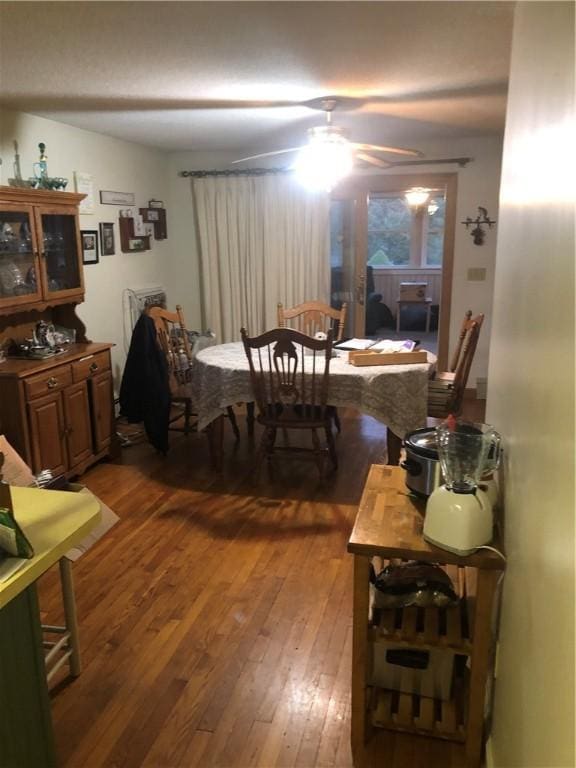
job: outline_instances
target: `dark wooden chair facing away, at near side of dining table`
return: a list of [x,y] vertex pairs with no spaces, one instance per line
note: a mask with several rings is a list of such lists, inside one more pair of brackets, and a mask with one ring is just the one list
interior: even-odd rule
[[[334,469],[338,467],[332,417],[326,402],[332,332],[328,331],[327,339],[323,340],[290,328],[275,328],[254,338],[242,328],[241,335],[258,408],[257,421],[264,427],[256,470],[264,457],[271,468],[276,452],[298,452],[315,460],[323,478],[327,457]],[[312,448],[276,446],[278,429],[311,430]],[[320,442],[321,430],[326,447]]]

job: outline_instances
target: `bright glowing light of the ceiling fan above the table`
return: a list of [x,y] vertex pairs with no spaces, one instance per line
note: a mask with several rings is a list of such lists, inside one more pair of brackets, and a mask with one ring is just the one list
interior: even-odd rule
[[313,190],[329,192],[347,176],[353,166],[352,148],[347,141],[311,141],[296,158],[298,180]]

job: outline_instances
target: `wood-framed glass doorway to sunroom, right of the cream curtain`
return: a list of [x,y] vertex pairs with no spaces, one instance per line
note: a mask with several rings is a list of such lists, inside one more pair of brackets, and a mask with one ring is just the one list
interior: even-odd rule
[[[359,176],[332,195],[332,299],[348,302],[347,335],[417,339],[446,363],[456,174]],[[412,187],[430,190],[408,205]]]

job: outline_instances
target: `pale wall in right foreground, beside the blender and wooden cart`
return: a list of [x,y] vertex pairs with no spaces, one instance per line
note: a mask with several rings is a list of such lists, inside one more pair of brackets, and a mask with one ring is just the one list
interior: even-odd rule
[[487,416],[504,438],[499,673],[489,757],[574,755],[574,5],[518,3]]

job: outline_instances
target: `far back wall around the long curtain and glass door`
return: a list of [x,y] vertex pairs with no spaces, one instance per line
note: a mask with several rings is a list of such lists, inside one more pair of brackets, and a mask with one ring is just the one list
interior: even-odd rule
[[[413,169],[398,168],[399,174],[409,173],[458,173],[457,225],[455,235],[454,282],[452,289],[452,316],[450,338],[457,337],[462,318],[467,309],[475,314],[483,312],[486,320],[470,373],[469,386],[475,387],[476,378],[487,376],[488,347],[490,338],[490,317],[494,286],[494,261],[496,256],[496,227],[486,235],[484,245],[474,245],[466,227],[460,224],[467,216],[475,218],[478,206],[488,209],[490,217],[498,219],[498,191],[500,184],[500,160],[502,141],[500,137],[452,139],[419,146],[429,157],[474,158],[465,168],[458,166],[417,166]],[[170,282],[171,295],[178,297],[184,306],[186,317],[193,318],[194,324],[201,322],[200,292],[198,285],[198,254],[195,242],[191,181],[178,176],[182,170],[223,169],[239,153],[193,153],[181,152],[170,155],[170,209],[174,233],[174,270]],[[274,165],[274,158],[268,163]],[[276,161],[278,165],[278,161]],[[265,161],[258,165],[264,166]],[[390,172],[387,172],[390,173]],[[484,282],[470,282],[468,269],[486,269]],[[192,270],[192,271],[190,271]],[[450,344],[452,349],[453,344]]]

